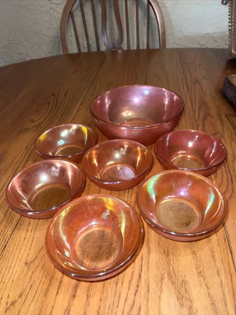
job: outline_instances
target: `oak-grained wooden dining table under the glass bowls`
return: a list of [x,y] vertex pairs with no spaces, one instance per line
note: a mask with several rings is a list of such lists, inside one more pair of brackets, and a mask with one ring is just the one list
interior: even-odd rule
[[[236,314],[236,112],[221,93],[235,72],[225,49],[92,52],[0,68],[0,314]],[[67,123],[95,128],[93,98],[134,84],[175,91],[185,104],[176,129],[206,131],[226,146],[227,162],[209,179],[225,194],[229,213],[197,242],[169,240],[144,223],[142,251],[125,271],[106,281],[76,281],[47,257],[50,220],[18,215],[4,191],[14,174],[40,160],[33,147],[38,134]],[[150,174],[160,171],[154,157]],[[113,195],[139,211],[138,189],[109,191],[87,179],[83,195]]]

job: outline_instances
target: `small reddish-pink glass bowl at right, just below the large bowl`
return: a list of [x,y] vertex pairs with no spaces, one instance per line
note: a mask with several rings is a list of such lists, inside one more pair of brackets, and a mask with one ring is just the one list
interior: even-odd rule
[[176,130],[155,143],[155,155],[164,169],[183,169],[209,176],[226,159],[225,146],[215,137],[198,130]]

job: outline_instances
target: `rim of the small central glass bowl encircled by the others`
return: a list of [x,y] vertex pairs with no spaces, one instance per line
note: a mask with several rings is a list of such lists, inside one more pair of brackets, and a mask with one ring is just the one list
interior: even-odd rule
[[[86,157],[89,155],[89,153],[97,148],[99,145],[103,144],[103,143],[107,143],[107,142],[119,142],[119,141],[125,141],[125,142],[131,142],[131,143],[134,143],[136,145],[139,145],[141,146],[147,153],[148,153],[148,156],[149,156],[149,163],[148,163],[148,166],[138,175],[132,177],[132,178],[129,178],[129,179],[126,179],[124,181],[118,181],[118,182],[107,182],[107,181],[104,181],[100,178],[97,178],[97,177],[94,177],[94,176],[91,176],[90,173],[87,171],[86,167],[84,167],[84,163],[85,163],[85,159]],[[151,170],[152,167],[153,167],[153,163],[154,163],[154,160],[153,160],[153,156],[151,154],[151,152],[148,150],[148,148],[146,146],[144,146],[143,144],[137,142],[137,141],[134,141],[134,140],[129,140],[129,139],[111,139],[111,140],[107,140],[107,141],[103,141],[103,142],[100,142],[96,145],[94,145],[93,147],[91,147],[84,155],[83,159],[82,159],[82,167],[85,171],[85,174],[90,178],[92,178],[94,181],[98,182],[98,183],[101,183],[101,184],[105,184],[105,185],[118,185],[118,184],[124,184],[124,183],[129,183],[129,182],[132,182],[133,180],[141,177],[142,175],[144,175],[148,170]],[[111,164],[112,165],[112,164]]]

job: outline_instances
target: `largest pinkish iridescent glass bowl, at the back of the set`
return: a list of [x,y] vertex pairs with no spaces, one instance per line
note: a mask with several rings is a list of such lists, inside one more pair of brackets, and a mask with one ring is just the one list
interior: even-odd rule
[[131,85],[98,95],[90,112],[108,139],[130,139],[150,145],[177,126],[183,108],[182,99],[172,91]]

